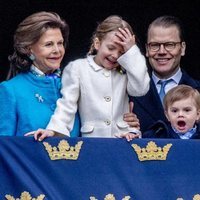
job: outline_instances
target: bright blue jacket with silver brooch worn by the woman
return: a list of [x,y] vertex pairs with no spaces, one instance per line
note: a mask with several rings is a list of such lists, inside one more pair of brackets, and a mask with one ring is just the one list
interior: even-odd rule
[[[0,135],[23,136],[46,128],[61,97],[60,78],[20,73],[0,84]],[[76,114],[71,136],[79,136],[80,119]]]

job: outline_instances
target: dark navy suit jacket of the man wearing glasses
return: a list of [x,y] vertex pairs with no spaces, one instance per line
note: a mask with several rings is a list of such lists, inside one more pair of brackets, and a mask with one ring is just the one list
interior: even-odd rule
[[[200,91],[200,81],[194,80],[186,72],[182,72],[183,74],[179,85],[189,85]],[[130,97],[130,101],[134,102],[133,113],[135,113],[140,120],[141,132],[146,131],[158,120],[167,122],[162,103],[160,101],[155,83],[152,79],[150,81],[150,89],[147,94],[141,97]]]

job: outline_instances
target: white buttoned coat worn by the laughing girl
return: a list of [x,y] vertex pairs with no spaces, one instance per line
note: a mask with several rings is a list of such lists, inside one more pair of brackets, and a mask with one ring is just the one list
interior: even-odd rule
[[149,90],[146,61],[134,45],[119,57],[118,63],[125,73],[97,65],[94,56],[70,62],[62,75],[62,98],[47,129],[70,136],[78,109],[82,137],[134,132],[123,121],[123,114],[129,112],[128,95],[142,96]]

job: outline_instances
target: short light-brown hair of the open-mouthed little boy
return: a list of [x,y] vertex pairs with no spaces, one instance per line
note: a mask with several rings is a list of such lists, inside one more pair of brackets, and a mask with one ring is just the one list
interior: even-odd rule
[[198,92],[198,90],[188,85],[178,85],[167,92],[163,100],[164,110],[167,111],[168,107],[174,102],[180,101],[182,99],[187,99],[189,97],[192,97],[194,99],[195,106],[197,110],[199,110],[200,93]]

